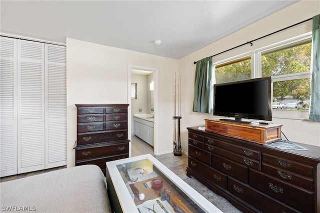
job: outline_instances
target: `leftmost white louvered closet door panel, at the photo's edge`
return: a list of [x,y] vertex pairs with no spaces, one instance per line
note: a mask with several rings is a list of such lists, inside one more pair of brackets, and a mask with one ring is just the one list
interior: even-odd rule
[[0,37],[0,176],[17,173],[16,39]]

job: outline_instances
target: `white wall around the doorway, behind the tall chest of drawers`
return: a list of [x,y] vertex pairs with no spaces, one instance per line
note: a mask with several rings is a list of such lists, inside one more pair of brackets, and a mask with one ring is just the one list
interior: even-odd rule
[[[155,154],[172,152],[173,76],[178,60],[126,49],[66,39],[67,72],[67,166],[74,166],[76,140],[76,103],[127,103],[128,66],[157,69],[157,102],[155,103]],[[129,114],[131,105],[129,106]],[[128,136],[131,117],[128,116]]]

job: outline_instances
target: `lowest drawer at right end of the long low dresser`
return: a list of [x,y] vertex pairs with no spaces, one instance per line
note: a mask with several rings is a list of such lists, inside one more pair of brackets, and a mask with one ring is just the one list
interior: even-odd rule
[[303,212],[314,212],[314,192],[302,190],[259,171],[249,171],[250,185]]

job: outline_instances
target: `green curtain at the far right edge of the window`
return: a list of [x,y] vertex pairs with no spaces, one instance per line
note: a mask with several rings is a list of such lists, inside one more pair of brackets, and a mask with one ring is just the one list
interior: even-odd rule
[[309,120],[320,122],[320,14],[312,18],[312,76]]

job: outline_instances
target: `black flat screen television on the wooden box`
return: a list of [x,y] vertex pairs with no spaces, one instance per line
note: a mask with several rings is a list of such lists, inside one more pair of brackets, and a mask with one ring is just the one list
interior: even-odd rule
[[222,118],[224,121],[272,120],[271,100],[271,76],[213,85],[213,115],[235,117]]

